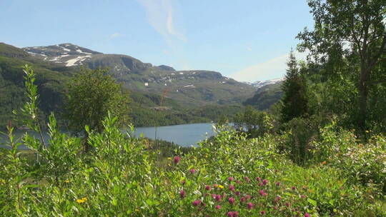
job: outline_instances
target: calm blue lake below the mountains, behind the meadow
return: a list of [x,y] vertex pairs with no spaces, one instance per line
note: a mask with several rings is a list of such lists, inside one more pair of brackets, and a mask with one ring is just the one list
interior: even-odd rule
[[[21,137],[25,131],[15,131],[16,138]],[[34,136],[38,136],[37,133],[30,132]],[[139,137],[141,134],[144,137],[154,139],[155,128],[154,127],[137,127],[134,131],[135,136]],[[165,141],[174,142],[180,146],[194,146],[199,141],[214,136],[212,123],[190,123],[180,124],[172,126],[158,126],[157,138]],[[0,142],[4,140],[4,136],[0,135]],[[44,140],[48,140],[48,135],[44,133]],[[26,149],[25,146],[21,146],[21,149]]]

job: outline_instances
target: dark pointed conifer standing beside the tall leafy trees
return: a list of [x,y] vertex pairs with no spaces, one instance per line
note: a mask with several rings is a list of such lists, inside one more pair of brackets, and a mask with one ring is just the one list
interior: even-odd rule
[[297,67],[297,61],[292,49],[289,53],[287,67],[287,74],[282,84],[282,123],[287,123],[292,118],[305,116],[309,110],[306,82]]

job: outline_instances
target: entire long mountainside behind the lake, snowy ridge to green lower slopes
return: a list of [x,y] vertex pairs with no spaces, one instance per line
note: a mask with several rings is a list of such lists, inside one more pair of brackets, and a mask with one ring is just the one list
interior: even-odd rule
[[[36,71],[44,117],[51,111],[61,113],[66,82],[81,64],[91,69],[109,67],[117,81],[130,90],[130,116],[135,126],[209,122],[221,114],[232,116],[254,92],[252,86],[214,71],[175,71],[170,66],[152,66],[130,56],[101,54],[72,44],[19,49],[0,43],[2,128],[12,111],[24,104],[24,64]],[[162,93],[166,96],[161,105]]]

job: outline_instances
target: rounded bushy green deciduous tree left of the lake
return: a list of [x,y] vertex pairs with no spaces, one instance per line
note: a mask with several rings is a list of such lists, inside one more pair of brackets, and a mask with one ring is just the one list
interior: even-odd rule
[[75,133],[102,131],[102,121],[110,111],[125,123],[129,116],[129,96],[115,83],[107,70],[81,69],[68,84],[66,118]]

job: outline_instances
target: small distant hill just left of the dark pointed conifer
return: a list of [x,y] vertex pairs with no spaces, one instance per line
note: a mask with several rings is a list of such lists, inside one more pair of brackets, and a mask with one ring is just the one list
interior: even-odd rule
[[[272,80],[271,80],[272,82]],[[265,110],[282,98],[282,81],[265,84],[257,89],[254,96],[244,101],[244,106],[254,106],[255,109]]]

